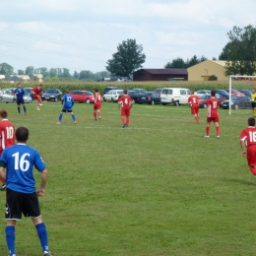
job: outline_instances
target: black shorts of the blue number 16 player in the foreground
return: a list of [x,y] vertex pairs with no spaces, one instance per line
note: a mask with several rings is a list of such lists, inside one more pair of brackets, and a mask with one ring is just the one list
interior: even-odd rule
[[6,189],[6,220],[22,220],[24,217],[38,218],[41,216],[39,201],[35,192],[25,194]]

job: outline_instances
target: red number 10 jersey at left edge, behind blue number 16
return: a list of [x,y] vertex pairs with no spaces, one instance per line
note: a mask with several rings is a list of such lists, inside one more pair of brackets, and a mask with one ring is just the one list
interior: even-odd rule
[[15,127],[8,119],[0,121],[0,156],[5,148],[15,145]]

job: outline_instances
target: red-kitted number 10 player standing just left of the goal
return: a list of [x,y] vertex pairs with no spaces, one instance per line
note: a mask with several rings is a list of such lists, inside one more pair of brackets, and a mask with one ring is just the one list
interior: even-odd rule
[[207,126],[206,126],[206,135],[205,138],[210,136],[210,123],[214,122],[216,126],[217,138],[220,138],[220,126],[219,126],[219,113],[218,107],[219,102],[215,97],[216,92],[211,91],[211,97],[207,101]]

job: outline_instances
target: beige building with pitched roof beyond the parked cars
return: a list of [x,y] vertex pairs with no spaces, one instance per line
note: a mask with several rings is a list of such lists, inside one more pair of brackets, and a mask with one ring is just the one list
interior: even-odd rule
[[218,81],[228,81],[224,75],[224,60],[205,60],[187,69],[188,81],[208,81],[215,75]]

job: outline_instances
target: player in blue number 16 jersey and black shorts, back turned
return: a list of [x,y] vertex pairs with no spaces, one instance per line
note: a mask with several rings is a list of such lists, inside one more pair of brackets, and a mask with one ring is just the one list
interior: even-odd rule
[[[15,225],[25,217],[31,217],[40,239],[42,254],[52,256],[48,250],[46,226],[42,222],[37,196],[44,195],[47,169],[39,153],[27,145],[29,130],[16,130],[17,144],[6,148],[0,159],[0,177],[6,181],[5,236],[9,256],[15,256]],[[35,192],[33,166],[41,173],[39,189]],[[4,171],[6,168],[6,173]],[[3,252],[1,253],[1,255]]]

